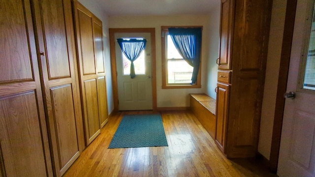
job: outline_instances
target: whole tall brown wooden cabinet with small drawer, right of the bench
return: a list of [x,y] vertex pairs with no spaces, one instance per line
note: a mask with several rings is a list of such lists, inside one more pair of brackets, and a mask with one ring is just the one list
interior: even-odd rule
[[221,0],[216,144],[227,157],[257,152],[272,0]]

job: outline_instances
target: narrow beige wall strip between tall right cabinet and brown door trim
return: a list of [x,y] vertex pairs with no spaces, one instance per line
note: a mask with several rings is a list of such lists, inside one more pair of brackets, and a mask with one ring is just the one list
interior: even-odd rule
[[270,158],[286,0],[273,0],[258,152]]

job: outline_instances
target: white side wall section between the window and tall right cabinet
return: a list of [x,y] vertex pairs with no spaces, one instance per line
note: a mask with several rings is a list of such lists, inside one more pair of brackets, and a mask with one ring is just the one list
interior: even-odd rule
[[208,38],[208,59],[206,69],[206,94],[216,99],[217,93],[215,88],[218,81],[218,65],[216,63],[219,52],[219,35],[220,35],[220,3],[213,8],[209,15],[209,38]]

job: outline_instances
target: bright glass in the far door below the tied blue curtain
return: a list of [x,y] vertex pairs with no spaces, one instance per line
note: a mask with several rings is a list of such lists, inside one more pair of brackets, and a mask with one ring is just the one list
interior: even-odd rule
[[[134,64],[134,72],[136,75],[144,75],[145,74],[145,62],[144,62],[144,51],[140,54],[139,58],[133,61]],[[125,54],[123,54],[123,68],[124,68],[124,75],[130,75],[130,65],[131,61],[129,61]]]

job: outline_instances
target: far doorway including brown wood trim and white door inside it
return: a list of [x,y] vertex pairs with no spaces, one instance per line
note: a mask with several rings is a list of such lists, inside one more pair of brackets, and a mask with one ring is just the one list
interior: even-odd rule
[[[141,35],[145,37],[141,37]],[[114,111],[157,110],[155,29],[109,29],[109,36]],[[149,38],[146,49],[151,50],[151,52],[146,52],[143,57],[145,60],[144,63],[151,67],[151,75],[150,69],[145,71],[144,74],[136,74],[134,79],[131,79],[127,73],[124,74],[124,67],[122,64],[124,55],[116,43],[117,38],[130,37]],[[142,81],[137,81],[138,79]],[[145,89],[145,91],[143,89]],[[150,94],[147,93],[151,91],[152,96],[148,96]],[[146,96],[144,96],[144,94],[139,94],[143,92],[146,92]],[[148,100],[148,97],[152,99]]]

